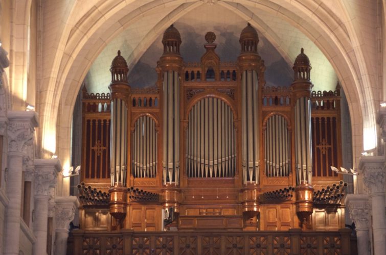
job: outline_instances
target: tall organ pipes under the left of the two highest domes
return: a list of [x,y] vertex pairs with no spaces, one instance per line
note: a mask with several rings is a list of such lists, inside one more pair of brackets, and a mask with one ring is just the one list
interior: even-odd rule
[[163,182],[179,181],[179,75],[164,72],[163,81]]

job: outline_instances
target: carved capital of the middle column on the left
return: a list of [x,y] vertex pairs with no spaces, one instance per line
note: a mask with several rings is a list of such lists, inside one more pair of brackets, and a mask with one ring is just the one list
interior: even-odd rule
[[35,160],[35,194],[49,195],[50,187],[55,187],[61,165],[58,159]]

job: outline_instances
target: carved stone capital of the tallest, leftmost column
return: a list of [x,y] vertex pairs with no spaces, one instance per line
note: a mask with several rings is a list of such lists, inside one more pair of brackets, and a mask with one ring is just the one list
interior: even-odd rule
[[32,146],[37,126],[37,115],[33,111],[8,112],[8,151],[21,152],[33,158]]

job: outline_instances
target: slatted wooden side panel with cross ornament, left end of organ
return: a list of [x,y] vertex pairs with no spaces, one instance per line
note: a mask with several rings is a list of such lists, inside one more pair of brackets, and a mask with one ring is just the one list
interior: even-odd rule
[[84,93],[82,108],[82,181],[103,183],[110,178],[109,94]]

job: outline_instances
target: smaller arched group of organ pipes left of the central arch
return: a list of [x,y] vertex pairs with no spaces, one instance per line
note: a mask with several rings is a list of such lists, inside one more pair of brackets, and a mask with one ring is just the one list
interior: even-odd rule
[[136,178],[155,177],[157,172],[157,136],[155,122],[149,116],[135,121],[131,135],[132,174]]

